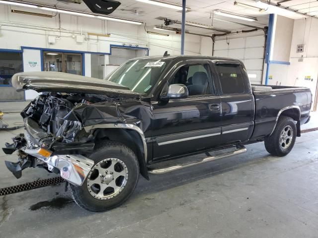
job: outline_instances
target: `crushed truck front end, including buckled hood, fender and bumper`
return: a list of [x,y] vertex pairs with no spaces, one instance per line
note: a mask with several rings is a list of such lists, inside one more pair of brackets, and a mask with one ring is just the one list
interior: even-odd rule
[[[120,102],[129,101],[125,104],[128,108],[122,110],[133,114],[138,115],[143,108],[137,100],[140,95],[129,88],[79,75],[24,72],[13,75],[12,85],[18,91],[32,89],[43,93],[21,112],[25,133],[3,148],[5,154],[16,151],[18,155],[18,162],[5,162],[17,179],[22,170],[40,167],[60,174],[74,185],[82,185],[94,165],[88,157],[95,146],[95,125],[135,124],[135,117],[123,117]],[[147,158],[145,138],[143,143]]]

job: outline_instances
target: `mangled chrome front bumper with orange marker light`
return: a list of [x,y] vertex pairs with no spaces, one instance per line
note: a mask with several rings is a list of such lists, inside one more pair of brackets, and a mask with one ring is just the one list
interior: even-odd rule
[[[3,148],[6,154],[12,154],[17,150],[19,161],[5,162],[13,175],[20,178],[23,169],[47,164],[49,171],[60,174],[63,179],[74,185],[82,185],[94,166],[94,161],[81,154],[90,153],[94,143],[53,143],[54,138],[40,128],[34,120],[26,118],[24,123],[26,135],[16,136],[13,138],[13,144],[6,143],[6,148]],[[51,143],[54,145],[50,147]],[[36,163],[30,161],[36,161]]]

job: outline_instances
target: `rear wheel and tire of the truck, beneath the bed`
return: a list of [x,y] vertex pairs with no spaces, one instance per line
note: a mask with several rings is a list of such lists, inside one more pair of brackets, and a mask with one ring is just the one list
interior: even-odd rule
[[290,117],[281,116],[273,133],[265,138],[265,148],[268,153],[282,157],[287,155],[294,147],[297,127]]

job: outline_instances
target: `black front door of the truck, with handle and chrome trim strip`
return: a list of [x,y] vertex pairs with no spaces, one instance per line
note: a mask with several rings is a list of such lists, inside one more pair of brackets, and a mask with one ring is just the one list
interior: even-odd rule
[[216,95],[208,61],[182,63],[168,84],[185,84],[189,96],[153,102],[154,160],[202,151],[220,143],[221,101]]

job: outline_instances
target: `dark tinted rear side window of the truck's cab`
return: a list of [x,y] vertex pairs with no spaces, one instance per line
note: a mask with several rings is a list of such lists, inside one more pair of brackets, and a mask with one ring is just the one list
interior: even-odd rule
[[216,65],[223,94],[244,93],[244,81],[236,64]]

